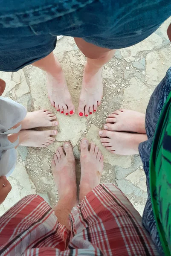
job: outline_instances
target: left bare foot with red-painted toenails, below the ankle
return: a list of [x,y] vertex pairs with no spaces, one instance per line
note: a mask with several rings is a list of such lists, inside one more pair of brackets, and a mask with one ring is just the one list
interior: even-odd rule
[[49,99],[53,107],[57,111],[65,115],[73,115],[75,107],[72,103],[71,95],[67,87],[64,71],[58,61],[52,73],[46,73],[47,76],[47,90]]

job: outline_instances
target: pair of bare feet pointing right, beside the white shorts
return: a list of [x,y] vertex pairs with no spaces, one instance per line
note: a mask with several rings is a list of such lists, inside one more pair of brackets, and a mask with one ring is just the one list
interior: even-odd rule
[[18,134],[10,134],[8,136],[8,139],[12,143],[17,140],[18,136],[19,145],[28,147],[45,148],[55,141],[55,138],[52,137],[57,134],[57,131],[55,129],[44,131],[30,130],[37,127],[57,126],[58,121],[56,121],[56,116],[50,111],[39,110],[29,112],[27,113],[26,118],[17,125],[15,125],[13,128],[16,128],[19,125],[21,125],[21,131],[19,131]]

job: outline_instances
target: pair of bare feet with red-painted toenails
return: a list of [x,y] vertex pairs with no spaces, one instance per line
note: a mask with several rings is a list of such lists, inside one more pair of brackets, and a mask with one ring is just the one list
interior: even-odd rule
[[[93,74],[88,70],[87,66],[84,68],[82,89],[78,106],[78,115],[80,117],[87,117],[93,114],[101,104],[101,98],[103,95],[101,72],[102,68]],[[58,112],[72,116],[75,113],[75,107],[72,103],[71,95],[67,87],[64,71],[57,60],[55,60],[55,66],[53,66],[51,73],[46,72],[46,76],[48,95],[51,105],[55,107]]]

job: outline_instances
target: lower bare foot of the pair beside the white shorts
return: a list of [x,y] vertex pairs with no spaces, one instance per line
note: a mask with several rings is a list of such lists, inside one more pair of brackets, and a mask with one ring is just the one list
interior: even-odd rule
[[[51,145],[57,134],[56,130],[46,130],[46,131],[32,131],[32,130],[23,130],[19,131],[19,145],[27,147],[38,147],[46,148]],[[13,134],[12,134],[13,135]]]

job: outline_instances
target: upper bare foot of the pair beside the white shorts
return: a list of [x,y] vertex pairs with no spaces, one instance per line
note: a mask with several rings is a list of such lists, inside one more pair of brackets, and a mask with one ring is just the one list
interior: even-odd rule
[[55,120],[55,114],[47,110],[38,110],[27,113],[26,117],[21,121],[21,129],[27,130],[36,127],[50,127],[58,125]]

